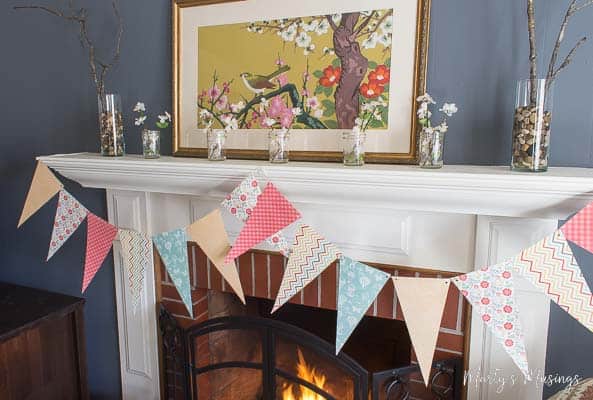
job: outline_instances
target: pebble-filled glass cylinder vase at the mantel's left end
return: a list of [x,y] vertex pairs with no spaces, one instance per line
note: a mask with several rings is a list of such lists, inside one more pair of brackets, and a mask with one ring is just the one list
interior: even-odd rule
[[99,140],[103,156],[123,156],[126,152],[121,110],[118,94],[99,97]]

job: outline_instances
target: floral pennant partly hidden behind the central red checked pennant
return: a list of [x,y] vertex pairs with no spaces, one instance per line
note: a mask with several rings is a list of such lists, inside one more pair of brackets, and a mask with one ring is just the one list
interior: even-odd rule
[[[263,175],[261,170],[249,174],[222,201],[222,208],[234,215],[238,220],[246,222],[257,204],[257,198],[262,193],[261,183],[264,180]],[[290,255],[290,245],[282,231],[276,232],[267,238],[266,241],[284,256],[288,257]]]

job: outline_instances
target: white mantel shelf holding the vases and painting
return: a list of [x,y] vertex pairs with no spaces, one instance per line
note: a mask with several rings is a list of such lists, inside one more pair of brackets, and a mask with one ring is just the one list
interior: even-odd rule
[[593,200],[593,169],[587,168],[550,168],[530,174],[505,166],[352,168],[331,163],[110,158],[91,153],[38,159],[85,187],[213,198],[222,198],[249,172],[261,168],[291,200],[328,206],[562,219]]

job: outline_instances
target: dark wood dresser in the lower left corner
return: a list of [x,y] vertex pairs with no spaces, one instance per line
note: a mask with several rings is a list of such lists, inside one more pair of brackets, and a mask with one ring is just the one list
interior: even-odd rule
[[88,399],[83,306],[0,282],[0,399]]

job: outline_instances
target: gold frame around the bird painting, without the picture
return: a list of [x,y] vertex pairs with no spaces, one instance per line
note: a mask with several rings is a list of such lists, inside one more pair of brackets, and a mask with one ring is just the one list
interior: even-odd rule
[[[416,111],[417,103],[416,97],[422,95],[426,91],[426,75],[428,64],[428,47],[430,36],[430,9],[431,0],[407,0],[416,1],[416,31],[415,31],[415,49],[413,60],[413,87],[410,101],[410,115],[409,122],[409,146],[407,151],[401,152],[367,152],[365,161],[370,163],[399,163],[399,164],[413,164],[417,162],[417,133],[419,131]],[[187,146],[182,143],[181,130],[181,113],[182,113],[182,96],[183,83],[181,79],[182,60],[181,57],[181,23],[182,13],[193,7],[215,5],[221,3],[235,3],[242,5],[249,3],[249,0],[173,0],[172,9],[172,67],[173,67],[173,155],[182,157],[207,157],[207,149],[205,147]],[[197,47],[197,46],[194,46]],[[186,89],[187,90],[187,89]],[[192,88],[196,90],[197,88]],[[197,113],[197,109],[196,109]],[[402,118],[403,119],[403,118]],[[406,137],[406,140],[408,138]],[[267,159],[268,152],[263,149],[250,148],[227,148],[226,155],[228,158],[237,159]],[[330,161],[341,162],[341,151],[324,151],[324,150],[291,150],[290,159],[296,161]]]

